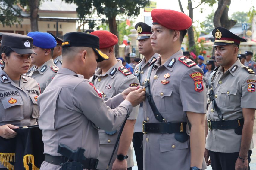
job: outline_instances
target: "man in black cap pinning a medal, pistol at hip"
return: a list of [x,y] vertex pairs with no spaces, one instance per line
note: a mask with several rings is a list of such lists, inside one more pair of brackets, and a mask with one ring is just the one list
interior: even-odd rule
[[[87,80],[94,74],[97,62],[108,59],[98,50],[97,36],[83,32],[67,33],[62,48],[62,68],[38,98],[39,128],[43,131],[46,154],[40,168],[43,170],[61,169],[60,163],[64,160],[57,153],[60,143],[73,150],[83,147],[86,149],[84,155],[92,158],[92,165],[95,165],[100,153],[99,134],[95,127],[105,131],[117,130],[132,107],[145,99],[142,89],[129,87],[104,102],[101,93]],[[54,161],[56,159],[59,161]],[[83,168],[95,168],[90,168],[92,165],[83,165]]]

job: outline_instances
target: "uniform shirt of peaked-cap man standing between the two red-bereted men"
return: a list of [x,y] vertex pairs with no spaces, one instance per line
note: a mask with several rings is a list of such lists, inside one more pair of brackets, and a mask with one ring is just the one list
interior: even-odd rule
[[[139,64],[136,65],[136,67],[134,68],[134,73],[133,75],[136,76],[137,74],[140,74],[139,75],[139,79],[140,79],[140,83],[141,85],[144,87],[144,79],[146,78],[146,75],[147,75],[147,70],[149,68],[149,64],[154,60],[156,59],[157,57],[159,57],[159,54],[158,53],[155,53],[149,60],[148,62],[146,63],[146,59],[143,58],[141,60],[141,62]],[[140,70],[140,73],[138,72],[139,71],[139,67],[141,66],[141,70]],[[135,126],[134,126],[134,132],[141,132],[142,133],[142,122],[143,122],[143,107],[140,106],[139,107],[139,114],[138,114],[138,117],[137,117],[137,120],[136,120],[136,123],[135,123]]]

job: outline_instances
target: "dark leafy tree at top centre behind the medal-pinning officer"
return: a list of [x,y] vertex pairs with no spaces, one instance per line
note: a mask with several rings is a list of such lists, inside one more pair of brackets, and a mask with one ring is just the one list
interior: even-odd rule
[[[67,3],[76,3],[78,6],[76,12],[78,17],[83,19],[86,15],[96,9],[99,17],[107,18],[109,30],[114,35],[118,36],[116,17],[119,14],[126,14],[131,17],[136,17],[140,13],[140,8],[149,4],[149,0],[64,0]],[[119,47],[116,45],[116,56],[118,56]]]

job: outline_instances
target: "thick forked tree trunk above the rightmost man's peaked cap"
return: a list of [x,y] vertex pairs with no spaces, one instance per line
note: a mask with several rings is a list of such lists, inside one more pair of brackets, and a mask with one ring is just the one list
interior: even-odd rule
[[231,0],[219,0],[218,8],[213,18],[214,27],[222,26],[226,29],[231,29],[236,24],[235,20],[229,20],[228,18],[230,4]]

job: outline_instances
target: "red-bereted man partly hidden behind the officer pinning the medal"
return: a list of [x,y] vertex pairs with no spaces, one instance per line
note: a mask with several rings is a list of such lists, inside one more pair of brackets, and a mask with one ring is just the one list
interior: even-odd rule
[[[117,60],[115,57],[115,45],[118,43],[118,38],[116,35],[112,34],[109,31],[94,31],[90,34],[96,35],[100,38],[100,50],[105,53],[109,59],[98,62],[98,70],[95,72],[95,75],[91,77],[91,81],[94,86],[101,92],[102,98],[106,101],[113,96],[116,96],[119,93],[122,93],[128,87],[137,87],[139,86],[139,81],[136,79],[133,74],[127,70],[120,60]],[[122,135],[120,137],[119,145],[114,153],[114,157],[111,160],[109,169],[120,169],[127,168],[132,169],[134,166],[133,163],[133,147],[132,147],[132,138],[134,124],[136,122],[139,111],[139,105],[133,108],[133,111],[130,114],[130,117],[125,123]],[[99,154],[99,163],[97,169],[105,170],[111,153],[113,151],[115,142],[119,129],[114,132],[99,130],[100,137],[100,154]],[[119,157],[128,156],[127,159],[119,160],[117,155],[122,155]],[[114,164],[113,164],[114,163]]]

